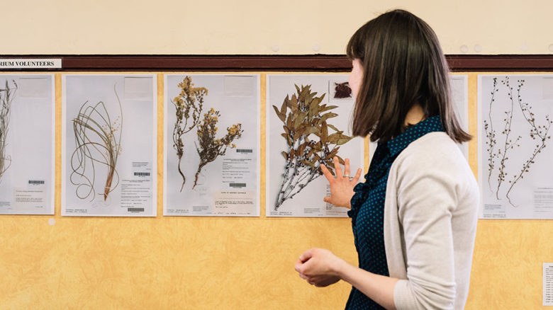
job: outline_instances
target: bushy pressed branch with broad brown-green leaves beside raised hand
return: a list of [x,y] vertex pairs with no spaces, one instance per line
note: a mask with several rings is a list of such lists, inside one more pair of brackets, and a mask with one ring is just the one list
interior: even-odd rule
[[[343,134],[327,120],[336,117],[330,112],[336,105],[321,104],[325,94],[316,97],[311,85],[296,85],[296,93],[290,98],[286,95],[280,109],[273,105],[274,112],[284,124],[281,134],[286,140],[286,151],[281,154],[286,159],[282,183],[279,187],[274,210],[282,203],[293,198],[312,180],[323,174],[320,165],[324,164],[334,174],[333,158],[337,156],[340,145],[352,137]],[[335,132],[329,134],[329,131]],[[337,156],[340,163],[344,161]]]

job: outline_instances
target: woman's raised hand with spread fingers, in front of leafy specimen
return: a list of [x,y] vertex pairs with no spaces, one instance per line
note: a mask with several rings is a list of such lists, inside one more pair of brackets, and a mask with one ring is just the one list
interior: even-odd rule
[[334,157],[334,171],[336,176],[333,176],[325,165],[320,165],[320,170],[330,183],[330,196],[323,198],[325,202],[331,203],[337,207],[351,207],[350,200],[354,195],[353,188],[357,184],[357,180],[361,176],[361,168],[357,169],[357,173],[352,178],[350,176],[350,159],[345,159],[344,173],[337,157]]

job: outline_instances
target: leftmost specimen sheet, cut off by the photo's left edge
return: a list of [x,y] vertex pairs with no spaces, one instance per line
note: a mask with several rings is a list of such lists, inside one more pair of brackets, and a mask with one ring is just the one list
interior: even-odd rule
[[53,74],[0,74],[0,214],[54,214]]

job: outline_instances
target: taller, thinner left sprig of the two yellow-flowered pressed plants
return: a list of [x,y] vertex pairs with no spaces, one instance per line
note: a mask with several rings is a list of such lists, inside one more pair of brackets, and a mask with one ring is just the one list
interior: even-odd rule
[[179,162],[177,167],[182,177],[181,191],[186,183],[184,173],[181,171],[181,159],[184,155],[184,144],[182,143],[182,135],[191,131],[200,122],[200,114],[203,108],[203,97],[207,96],[208,89],[204,87],[194,87],[192,78],[185,76],[183,81],[179,83],[181,93],[172,101],[175,107],[175,115],[177,121],[173,128],[173,148],[177,151]]

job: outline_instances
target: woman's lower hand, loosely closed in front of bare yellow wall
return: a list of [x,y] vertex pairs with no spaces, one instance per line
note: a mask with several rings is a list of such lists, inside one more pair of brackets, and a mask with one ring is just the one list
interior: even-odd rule
[[345,261],[324,248],[311,248],[301,254],[294,265],[299,276],[315,287],[326,287],[340,281]]

